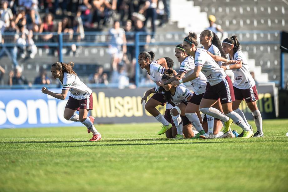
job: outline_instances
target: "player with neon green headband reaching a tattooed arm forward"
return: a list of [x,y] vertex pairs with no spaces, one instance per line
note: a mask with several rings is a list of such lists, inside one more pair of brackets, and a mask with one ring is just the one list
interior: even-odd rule
[[[181,62],[180,69],[177,75],[173,76],[171,79],[157,82],[158,86],[168,85],[174,80],[182,79],[184,75],[190,75],[193,73],[195,68],[194,59],[192,56],[190,55],[188,56],[185,53],[185,49],[183,49],[182,44],[177,45],[177,47],[175,48],[175,56],[177,57],[178,61]],[[183,58],[183,56],[186,57]],[[198,134],[194,138],[199,138],[200,135],[205,134],[196,112],[199,110],[200,101],[205,93],[206,82],[207,82],[206,77],[202,72],[199,73],[198,78],[191,81],[192,90],[194,94],[187,104],[185,115],[189,119],[193,127],[195,127],[196,130],[198,131]]]

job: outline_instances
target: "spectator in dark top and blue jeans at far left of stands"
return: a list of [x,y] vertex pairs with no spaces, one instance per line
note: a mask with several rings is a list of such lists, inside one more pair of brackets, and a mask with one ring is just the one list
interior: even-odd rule
[[[3,21],[0,21],[0,28],[1,28],[1,22]],[[16,47],[16,40],[18,39],[18,32],[19,32],[19,29],[18,27],[16,26],[15,22],[13,20],[11,20],[10,22],[10,25],[5,28],[5,27],[2,27],[1,30],[0,30],[0,39],[2,43],[14,43],[14,46],[5,46],[4,44],[2,45],[2,49],[0,50],[0,58],[6,54],[9,59],[12,61],[13,65],[14,66],[17,66],[18,65],[18,61],[17,61],[17,52],[18,52],[18,49]],[[3,24],[5,24],[3,22]],[[7,32],[7,33],[10,33],[8,35],[4,35],[3,36],[3,39],[1,38],[1,31],[4,31],[4,32]]]

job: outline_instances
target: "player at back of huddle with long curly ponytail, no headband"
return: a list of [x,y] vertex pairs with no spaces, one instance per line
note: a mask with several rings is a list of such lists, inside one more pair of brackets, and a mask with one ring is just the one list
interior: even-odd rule
[[[200,43],[203,45],[203,49],[206,49],[207,51],[209,51],[213,55],[221,56],[221,57],[227,59],[227,56],[224,53],[224,50],[222,48],[222,45],[221,45],[221,42],[220,42],[218,36],[215,33],[213,33],[211,30],[206,29],[206,30],[202,31],[202,33],[200,34],[199,40],[200,40]],[[221,61],[218,61],[217,63],[219,66],[222,66]],[[229,78],[229,76],[227,76],[226,78]],[[223,110],[222,110],[222,107],[221,107],[219,100],[213,105],[213,107],[218,109],[220,112],[223,113]],[[206,116],[207,115],[205,115],[205,118],[203,119],[202,126],[203,126],[203,128],[204,127],[206,128],[206,126],[208,126],[208,132],[210,134],[205,134],[205,135],[201,136],[201,138],[212,138],[211,137],[212,133],[214,134],[214,138],[219,137],[218,133],[222,129],[222,122],[219,119],[217,119],[217,118],[215,119],[212,116],[208,116],[208,117],[206,117]],[[205,128],[204,128],[204,130],[205,130]],[[215,137],[215,135],[216,135],[216,137]]]

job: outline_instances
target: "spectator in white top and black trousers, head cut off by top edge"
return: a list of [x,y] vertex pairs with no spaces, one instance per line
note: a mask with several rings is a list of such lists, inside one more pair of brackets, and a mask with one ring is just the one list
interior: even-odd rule
[[154,33],[156,32],[155,21],[157,19],[157,0],[148,0],[145,2],[145,6],[143,6],[139,13],[143,14],[146,11],[146,20],[144,22],[144,26],[146,26],[147,20],[151,18],[151,26],[152,26],[152,39],[154,38]]

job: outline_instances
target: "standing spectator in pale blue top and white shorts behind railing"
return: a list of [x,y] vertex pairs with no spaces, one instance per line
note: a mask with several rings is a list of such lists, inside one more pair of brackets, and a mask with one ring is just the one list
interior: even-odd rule
[[126,54],[126,36],[124,29],[120,28],[120,22],[114,21],[114,28],[109,30],[110,43],[109,53],[111,54],[112,70],[117,69],[117,65],[121,62],[123,54]]

